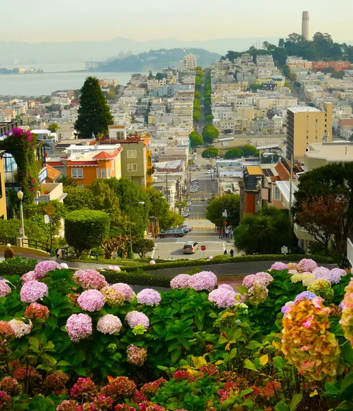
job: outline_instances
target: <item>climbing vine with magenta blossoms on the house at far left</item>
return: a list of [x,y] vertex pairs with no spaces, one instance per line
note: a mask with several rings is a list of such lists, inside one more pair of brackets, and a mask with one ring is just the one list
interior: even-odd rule
[[37,195],[39,187],[38,173],[40,171],[42,159],[38,150],[38,160],[36,151],[40,148],[36,134],[14,127],[5,140],[0,141],[0,149],[10,153],[16,164],[19,173],[19,184],[23,191],[23,202],[32,203]]

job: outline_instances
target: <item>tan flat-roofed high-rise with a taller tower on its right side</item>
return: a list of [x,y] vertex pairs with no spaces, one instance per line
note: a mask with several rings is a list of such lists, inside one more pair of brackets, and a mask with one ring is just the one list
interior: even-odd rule
[[287,157],[303,161],[304,153],[313,142],[332,141],[332,103],[325,111],[296,105],[287,108]]

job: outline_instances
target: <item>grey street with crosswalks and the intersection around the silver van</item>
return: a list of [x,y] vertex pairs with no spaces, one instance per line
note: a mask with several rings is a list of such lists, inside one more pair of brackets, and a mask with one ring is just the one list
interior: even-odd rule
[[[197,153],[197,160],[195,164],[201,165],[201,171],[192,171],[191,179],[199,180],[199,191],[191,193],[190,199],[193,200],[191,205],[190,215],[184,220],[184,224],[188,227],[193,227],[193,231],[186,234],[182,238],[157,238],[156,249],[151,254],[152,258],[208,258],[217,254],[223,254],[227,249],[228,253],[232,248],[232,241],[230,239],[219,239],[219,235],[215,230],[215,225],[206,220],[205,212],[208,200],[214,195],[218,194],[217,179],[211,179],[210,174],[206,174],[208,170],[207,165],[210,164],[208,160],[201,157],[201,153]],[[215,162],[213,163],[215,165]],[[202,201],[204,197],[204,201]],[[186,241],[197,241],[199,249],[194,254],[184,254],[182,248]],[[206,251],[201,250],[201,245],[206,246]]]

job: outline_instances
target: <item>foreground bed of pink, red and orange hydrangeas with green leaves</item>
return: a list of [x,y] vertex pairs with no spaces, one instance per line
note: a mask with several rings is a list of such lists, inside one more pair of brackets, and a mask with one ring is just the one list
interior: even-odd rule
[[134,295],[37,264],[0,282],[0,410],[351,410],[350,277],[302,260]]

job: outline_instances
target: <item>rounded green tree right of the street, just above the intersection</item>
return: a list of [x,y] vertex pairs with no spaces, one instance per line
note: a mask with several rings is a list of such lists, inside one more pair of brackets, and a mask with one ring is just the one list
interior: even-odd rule
[[[228,217],[223,217],[222,212],[227,210]],[[236,227],[239,225],[240,196],[238,194],[226,194],[210,200],[206,207],[206,219],[212,221],[217,227],[223,226],[223,221]]]

